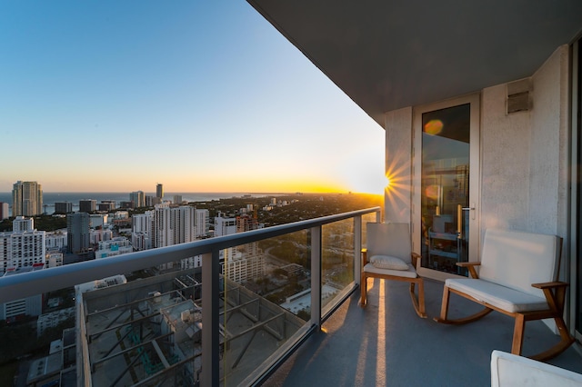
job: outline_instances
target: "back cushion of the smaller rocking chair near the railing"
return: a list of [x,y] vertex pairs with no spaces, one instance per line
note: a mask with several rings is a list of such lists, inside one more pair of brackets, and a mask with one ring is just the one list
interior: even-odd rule
[[390,255],[411,263],[410,226],[408,223],[367,223],[367,256]]

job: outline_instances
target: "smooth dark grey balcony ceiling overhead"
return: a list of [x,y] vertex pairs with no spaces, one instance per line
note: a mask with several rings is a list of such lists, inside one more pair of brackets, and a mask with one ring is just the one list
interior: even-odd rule
[[534,74],[582,31],[580,0],[248,0],[378,124]]

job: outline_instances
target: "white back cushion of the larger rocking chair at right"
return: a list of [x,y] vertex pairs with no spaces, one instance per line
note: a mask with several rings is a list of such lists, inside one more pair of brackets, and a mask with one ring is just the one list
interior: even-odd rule
[[488,229],[479,278],[540,296],[531,284],[557,280],[560,246],[556,235]]

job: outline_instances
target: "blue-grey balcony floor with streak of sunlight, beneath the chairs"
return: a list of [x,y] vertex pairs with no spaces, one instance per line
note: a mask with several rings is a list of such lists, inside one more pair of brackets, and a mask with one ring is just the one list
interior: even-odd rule
[[[440,313],[443,283],[425,281],[426,319],[416,316],[407,283],[368,283],[366,308],[357,304],[358,289],[264,385],[490,385],[491,352],[511,351],[512,318],[494,312],[467,325],[440,324],[432,318]],[[449,316],[479,308],[452,294]],[[523,353],[544,351],[557,337],[542,322],[527,323]],[[574,346],[549,363],[582,373]]]

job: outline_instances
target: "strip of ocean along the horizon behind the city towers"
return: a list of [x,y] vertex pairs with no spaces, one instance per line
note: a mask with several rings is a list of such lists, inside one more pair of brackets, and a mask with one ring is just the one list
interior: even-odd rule
[[[146,196],[156,196],[156,193],[146,193]],[[232,197],[241,197],[250,195],[252,197],[276,196],[288,193],[164,193],[165,200],[173,200],[175,195],[182,195],[184,202],[210,202],[213,200],[229,199]],[[93,199],[98,203],[105,200],[115,200],[118,207],[121,202],[129,202],[129,193],[95,193],[95,192],[77,192],[77,193],[43,193],[44,213],[55,213],[55,203],[68,202],[73,203],[73,211],[79,211],[79,201]],[[0,202],[8,203],[8,213],[12,216],[12,192],[0,193]]]

